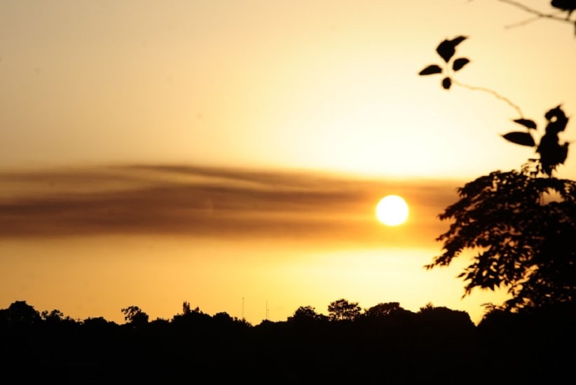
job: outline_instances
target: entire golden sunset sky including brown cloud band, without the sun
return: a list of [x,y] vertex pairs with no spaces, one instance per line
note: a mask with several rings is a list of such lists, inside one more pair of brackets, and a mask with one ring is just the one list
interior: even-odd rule
[[[576,109],[574,26],[532,17],[498,0],[1,1],[0,308],[122,321],[188,301],[259,323],[345,297],[479,320],[501,293],[461,299],[458,264],[422,266],[458,186],[534,156],[500,137],[512,120],[542,133],[548,109]],[[521,116],[418,76],[460,35],[455,79]],[[576,177],[570,154],[558,176]],[[376,222],[386,194],[405,225]]]

